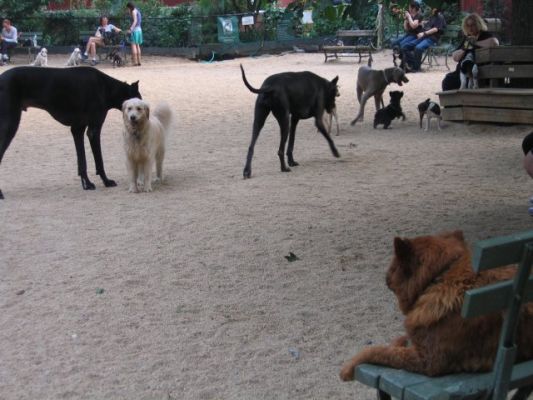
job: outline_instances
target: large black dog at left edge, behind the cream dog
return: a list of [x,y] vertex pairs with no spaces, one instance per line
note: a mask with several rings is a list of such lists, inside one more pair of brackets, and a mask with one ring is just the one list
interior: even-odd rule
[[[104,170],[100,132],[107,112],[112,108],[120,110],[122,103],[133,97],[141,98],[138,81],[128,85],[95,68],[10,69],[0,75],[0,162],[17,133],[22,111],[36,107],[70,126],[83,189],[95,188],[87,177],[85,131],[93,151],[96,173],[106,187],[116,186]],[[3,198],[1,191],[0,198]]]

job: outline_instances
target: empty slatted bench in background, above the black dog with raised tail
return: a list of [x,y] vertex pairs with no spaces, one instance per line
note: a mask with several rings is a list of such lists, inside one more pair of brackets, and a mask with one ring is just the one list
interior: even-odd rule
[[[337,31],[333,43],[322,46],[324,51],[324,62],[329,58],[339,57],[359,57],[359,63],[363,57],[368,57],[372,61],[372,51],[376,49],[375,41],[377,33],[375,30],[342,30]],[[343,39],[353,39],[355,45],[345,45]]]

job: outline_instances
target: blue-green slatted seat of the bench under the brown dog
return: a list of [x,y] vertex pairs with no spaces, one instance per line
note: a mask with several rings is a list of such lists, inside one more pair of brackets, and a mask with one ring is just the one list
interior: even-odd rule
[[[463,373],[431,378],[371,364],[362,364],[357,367],[355,379],[367,386],[379,388],[400,400],[475,398],[487,392],[493,383],[492,372]],[[533,360],[516,364],[511,375],[510,389],[531,384],[533,384]],[[391,389],[391,391],[386,389]]]

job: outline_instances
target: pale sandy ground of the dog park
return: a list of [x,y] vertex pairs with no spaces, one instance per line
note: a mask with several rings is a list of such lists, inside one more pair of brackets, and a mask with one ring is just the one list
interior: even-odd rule
[[[281,173],[270,117],[243,180],[255,95],[239,62],[255,86],[282,71],[338,74],[342,158],[304,121],[300,166]],[[88,192],[68,128],[25,113],[0,169],[0,399],[373,399],[338,372],[401,332],[384,282],[393,237],[529,229],[531,127],[419,130],[416,105],[436,98],[442,68],[409,76],[407,121],[374,130],[369,104],[350,127],[357,68],[320,54],[102,67],[176,113],[167,180],[151,194],[127,192],[118,111],[102,137],[119,186],[94,176],[87,145]]]

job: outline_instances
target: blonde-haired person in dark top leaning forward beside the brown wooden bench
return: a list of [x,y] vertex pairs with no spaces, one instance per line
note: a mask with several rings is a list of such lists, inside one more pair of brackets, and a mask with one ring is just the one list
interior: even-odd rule
[[446,74],[442,81],[442,90],[454,90],[461,87],[461,63],[476,49],[499,45],[498,39],[488,32],[483,18],[476,13],[469,14],[463,19],[462,28],[463,40],[452,53],[453,60],[457,62],[457,68],[454,72]]

